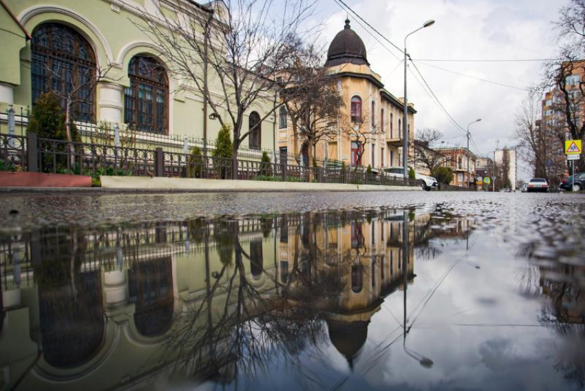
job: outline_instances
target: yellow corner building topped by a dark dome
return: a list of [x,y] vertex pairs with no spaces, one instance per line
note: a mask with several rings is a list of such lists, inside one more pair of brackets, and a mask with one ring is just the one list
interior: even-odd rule
[[[390,94],[380,75],[370,68],[365,45],[349,20],[331,42],[325,67],[339,77],[337,89],[344,104],[337,120],[337,136],[317,142],[313,156],[328,162],[343,161],[346,167],[371,165],[374,171],[402,166],[403,99]],[[409,104],[409,145],[414,141],[414,114],[414,105]],[[284,108],[278,124],[281,156],[299,154],[301,164],[306,165],[307,147],[295,138]]]

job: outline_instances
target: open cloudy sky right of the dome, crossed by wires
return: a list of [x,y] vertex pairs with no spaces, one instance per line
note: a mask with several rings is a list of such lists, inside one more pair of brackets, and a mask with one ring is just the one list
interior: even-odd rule
[[[413,59],[433,60],[526,60],[549,59],[555,54],[552,21],[568,0],[343,0],[387,39],[403,46],[405,34],[424,21],[435,19],[432,27],[409,37],[408,52]],[[323,23],[323,45],[343,28],[349,15],[352,28],[368,50],[372,70],[381,75],[387,89],[403,96],[402,54],[390,44],[384,47],[365,30],[357,17],[334,0],[320,0],[315,21]],[[364,25],[365,26],[365,25]],[[376,36],[379,39],[379,36]],[[384,42],[380,39],[381,42]],[[399,58],[399,59],[397,59]],[[514,114],[524,89],[542,77],[540,61],[455,62],[420,61],[423,74],[440,103],[463,128],[471,125],[475,144],[471,151],[491,155],[496,145],[515,145]],[[438,69],[443,68],[443,70]],[[412,72],[416,71],[411,67]],[[450,72],[447,72],[450,71]],[[455,72],[455,73],[453,73]],[[460,75],[462,74],[462,75]],[[473,76],[467,77],[463,75]],[[482,78],[502,85],[479,81]],[[416,80],[408,74],[408,97],[418,110],[415,128],[433,127],[443,131],[445,142],[465,145],[460,131],[434,103]],[[514,88],[515,87],[515,88]],[[530,174],[519,167],[520,179]]]

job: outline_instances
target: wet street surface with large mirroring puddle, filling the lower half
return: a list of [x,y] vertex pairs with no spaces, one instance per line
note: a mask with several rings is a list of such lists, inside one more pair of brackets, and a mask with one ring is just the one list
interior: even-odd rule
[[0,388],[585,385],[583,195],[6,195],[0,219]]

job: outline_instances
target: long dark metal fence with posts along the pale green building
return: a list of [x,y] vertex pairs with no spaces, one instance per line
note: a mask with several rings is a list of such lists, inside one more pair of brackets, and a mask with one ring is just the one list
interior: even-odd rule
[[[288,162],[262,162],[238,158],[219,158],[162,147],[144,149],[113,147],[87,142],[67,142],[27,136],[0,134],[0,159],[3,169],[45,173],[72,173],[87,176],[159,176],[419,186],[422,182],[356,170],[328,167],[301,167]],[[235,172],[234,172],[235,171]]]

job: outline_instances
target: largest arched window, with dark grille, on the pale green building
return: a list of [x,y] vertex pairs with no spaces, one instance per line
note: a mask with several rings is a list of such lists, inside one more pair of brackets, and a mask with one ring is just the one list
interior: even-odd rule
[[[32,104],[42,94],[59,96],[73,92],[70,114],[74,120],[95,119],[96,56],[91,45],[76,30],[59,23],[45,23],[32,33]],[[65,110],[65,98],[61,98]]]

